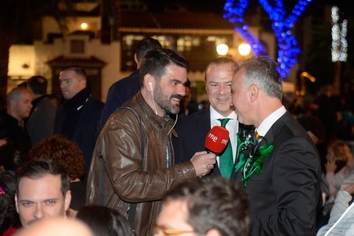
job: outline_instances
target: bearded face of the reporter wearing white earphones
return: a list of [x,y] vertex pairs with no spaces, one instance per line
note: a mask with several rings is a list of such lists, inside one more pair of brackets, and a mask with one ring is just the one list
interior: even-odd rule
[[183,67],[169,64],[166,73],[160,80],[155,80],[153,96],[156,109],[164,113],[177,114],[180,112],[180,101],[185,96],[187,70]]

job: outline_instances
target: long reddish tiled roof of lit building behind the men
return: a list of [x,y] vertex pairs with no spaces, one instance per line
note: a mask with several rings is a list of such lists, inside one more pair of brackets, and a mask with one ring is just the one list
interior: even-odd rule
[[120,10],[119,28],[233,30],[222,15],[202,12],[165,11],[149,13],[144,10]]

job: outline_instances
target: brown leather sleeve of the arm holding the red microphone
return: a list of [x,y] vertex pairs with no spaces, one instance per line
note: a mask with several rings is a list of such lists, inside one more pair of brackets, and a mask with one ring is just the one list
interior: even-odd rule
[[[129,123],[121,122],[122,116],[124,122],[128,120]],[[195,171],[189,161],[168,168],[142,170],[141,138],[139,129],[134,129],[137,125],[134,123],[135,120],[136,117],[130,112],[109,120],[109,126],[103,134],[107,175],[114,191],[126,202],[160,200],[168,190],[181,181],[195,177]],[[151,158],[151,155],[160,155],[151,153],[149,143],[147,145],[147,158]],[[165,157],[160,158],[163,162]]]

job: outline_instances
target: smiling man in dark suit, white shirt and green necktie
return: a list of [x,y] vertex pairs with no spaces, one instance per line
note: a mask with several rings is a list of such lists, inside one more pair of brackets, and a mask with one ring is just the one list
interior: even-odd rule
[[[217,156],[218,165],[211,170],[212,175],[229,179],[237,150],[236,134],[239,128],[237,116],[230,106],[231,81],[233,67],[237,64],[230,58],[219,57],[209,63],[205,70],[205,88],[210,106],[200,112],[183,117],[176,125],[178,138],[173,139],[175,162],[188,161],[195,152],[205,150],[205,138],[210,129],[221,125],[221,119],[228,119],[225,124],[230,132],[230,153]],[[221,158],[222,157],[222,158]],[[223,169],[221,168],[224,167]],[[222,171],[220,171],[222,170]]]

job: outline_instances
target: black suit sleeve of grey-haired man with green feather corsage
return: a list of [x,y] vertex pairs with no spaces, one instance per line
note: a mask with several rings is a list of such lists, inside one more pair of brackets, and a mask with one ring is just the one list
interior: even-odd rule
[[311,235],[316,219],[319,158],[301,136],[287,139],[275,153],[272,185],[277,212],[258,217],[252,235]]

